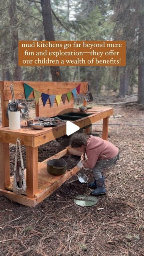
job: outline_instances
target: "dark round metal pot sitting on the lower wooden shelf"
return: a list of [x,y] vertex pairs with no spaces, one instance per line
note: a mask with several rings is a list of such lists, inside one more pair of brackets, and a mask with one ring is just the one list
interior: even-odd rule
[[67,163],[63,159],[50,159],[46,164],[47,172],[53,175],[64,174],[67,169]]

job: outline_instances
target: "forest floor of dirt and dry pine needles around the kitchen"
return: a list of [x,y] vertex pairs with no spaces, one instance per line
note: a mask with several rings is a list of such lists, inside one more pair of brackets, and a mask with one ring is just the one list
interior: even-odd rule
[[[90,194],[77,175],[35,208],[1,196],[0,256],[144,255],[144,112],[134,106],[114,106],[114,114],[122,117],[110,117],[108,140],[119,148],[120,160],[104,171],[106,196],[97,197],[98,203],[91,207],[76,205],[76,195]],[[92,127],[101,136],[102,121]],[[67,139],[61,138],[43,145],[39,161],[66,144]],[[11,170],[14,151],[11,145]],[[65,160],[72,168],[79,158],[69,155]],[[92,180],[90,170],[82,172]]]

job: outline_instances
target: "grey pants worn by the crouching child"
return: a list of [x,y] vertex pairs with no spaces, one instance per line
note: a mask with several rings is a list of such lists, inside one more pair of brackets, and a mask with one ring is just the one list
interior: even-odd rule
[[116,164],[117,160],[119,160],[119,154],[110,159],[99,159],[94,168],[92,168],[95,180],[102,178],[102,170]]

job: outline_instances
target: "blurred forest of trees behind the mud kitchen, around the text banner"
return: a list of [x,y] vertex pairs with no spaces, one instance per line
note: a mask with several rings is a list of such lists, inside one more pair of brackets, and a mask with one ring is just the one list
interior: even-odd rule
[[[143,0],[1,0],[0,80],[89,81],[144,104]],[[126,66],[18,66],[18,40],[126,40]]]

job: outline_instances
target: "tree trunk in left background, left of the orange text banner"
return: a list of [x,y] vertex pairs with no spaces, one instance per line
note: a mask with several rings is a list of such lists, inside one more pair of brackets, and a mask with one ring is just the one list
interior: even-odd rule
[[17,28],[17,17],[16,17],[16,1],[11,0],[9,5],[9,16],[11,25],[11,36],[12,36],[12,63],[14,65],[13,78],[16,81],[21,79],[21,68],[18,66],[18,28]]

